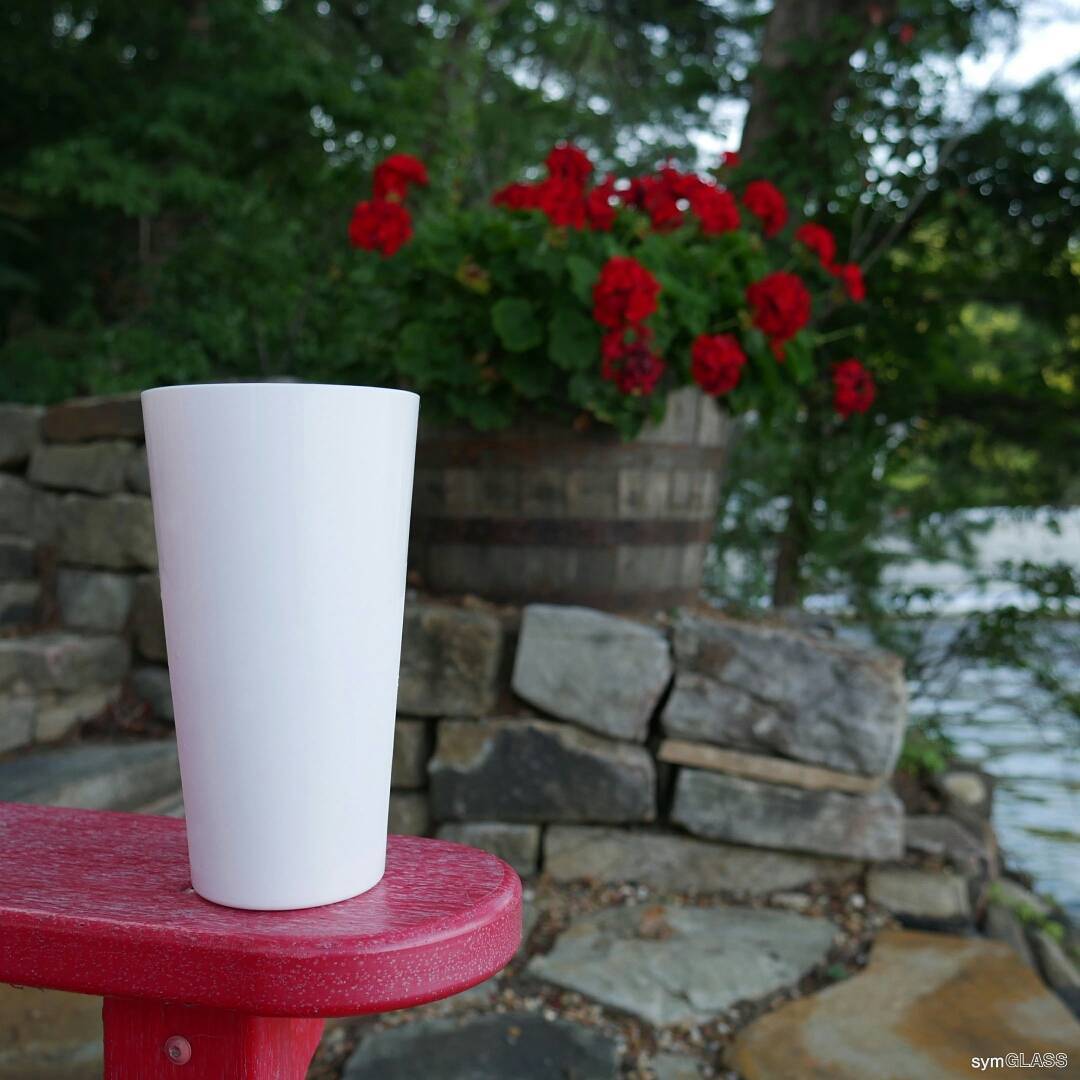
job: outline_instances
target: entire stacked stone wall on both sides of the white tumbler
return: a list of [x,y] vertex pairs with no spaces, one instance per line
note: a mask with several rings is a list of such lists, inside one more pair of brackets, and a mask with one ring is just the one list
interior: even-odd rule
[[[0,751],[171,719],[137,396],[0,406]],[[900,663],[793,625],[410,595],[399,712],[392,828],[526,874],[754,891],[904,850]]]

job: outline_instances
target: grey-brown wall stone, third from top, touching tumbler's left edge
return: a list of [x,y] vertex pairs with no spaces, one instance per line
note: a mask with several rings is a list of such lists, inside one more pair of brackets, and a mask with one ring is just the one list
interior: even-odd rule
[[62,562],[107,570],[158,565],[150,500],[141,495],[66,495],[56,504],[56,551]]

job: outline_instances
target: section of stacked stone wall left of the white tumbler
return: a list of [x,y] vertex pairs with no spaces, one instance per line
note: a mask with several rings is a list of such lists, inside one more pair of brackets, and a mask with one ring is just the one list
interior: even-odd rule
[[136,576],[157,564],[141,435],[137,395],[0,409],[2,750],[120,696]]

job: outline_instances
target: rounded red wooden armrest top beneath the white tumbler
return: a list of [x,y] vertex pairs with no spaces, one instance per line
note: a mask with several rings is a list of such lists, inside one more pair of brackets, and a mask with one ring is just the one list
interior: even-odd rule
[[494,855],[392,836],[369,892],[240,912],[191,890],[184,822],[0,804],[0,982],[262,1016],[346,1016],[448,997],[521,939]]

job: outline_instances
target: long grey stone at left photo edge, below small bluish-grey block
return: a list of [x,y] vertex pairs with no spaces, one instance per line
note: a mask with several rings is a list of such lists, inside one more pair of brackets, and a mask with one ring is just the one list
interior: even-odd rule
[[127,672],[121,637],[50,632],[0,638],[0,690],[80,690],[118,683]]

